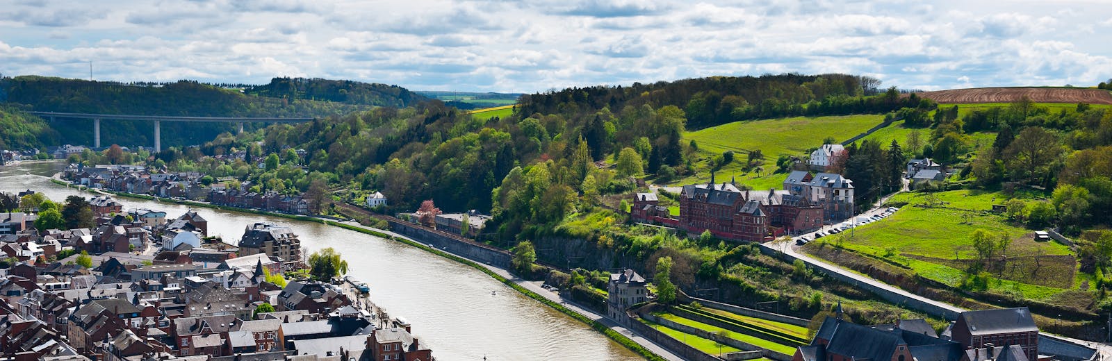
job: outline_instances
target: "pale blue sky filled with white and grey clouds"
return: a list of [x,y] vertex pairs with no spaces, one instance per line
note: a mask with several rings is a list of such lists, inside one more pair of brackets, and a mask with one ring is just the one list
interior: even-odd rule
[[538,92],[709,76],[1091,87],[1112,2],[0,0],[0,73]]

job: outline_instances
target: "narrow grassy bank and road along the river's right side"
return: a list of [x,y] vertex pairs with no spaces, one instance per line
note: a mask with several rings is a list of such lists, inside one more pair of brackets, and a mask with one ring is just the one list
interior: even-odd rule
[[[66,185],[66,187],[70,187],[70,188],[72,188],[72,185],[73,185],[73,184],[70,184],[70,183],[68,183],[66,181],[60,180],[59,177],[58,177],[58,174],[54,174],[54,177],[51,177],[50,181],[53,182],[53,183],[56,183],[56,184]],[[586,323],[587,325],[589,325],[596,332],[606,335],[607,338],[614,340],[618,344],[622,344],[626,349],[628,349],[628,350],[637,353],[638,355],[641,355],[641,357],[643,357],[643,358],[645,358],[647,360],[669,360],[669,361],[671,360],[682,360],[679,357],[676,357],[676,355],[672,354],[669,351],[661,348],[659,345],[656,345],[656,344],[652,343],[651,341],[648,341],[648,340],[646,340],[644,338],[637,337],[636,334],[634,334],[629,330],[620,328],[619,325],[617,325],[613,321],[607,322],[608,320],[606,320],[602,315],[598,315],[598,314],[593,313],[593,312],[590,312],[588,310],[575,307],[573,304],[567,304],[567,305],[560,304],[559,303],[560,301],[558,300],[558,298],[556,298],[554,300],[550,295],[546,297],[546,295],[543,295],[540,293],[537,293],[536,290],[530,290],[530,287],[529,287],[530,284],[529,284],[528,281],[525,281],[525,280],[522,280],[519,278],[516,278],[516,277],[512,275],[509,273],[509,271],[506,270],[506,269],[497,268],[497,267],[494,267],[494,265],[485,265],[485,264],[481,264],[480,262],[476,262],[474,260],[470,260],[470,259],[467,259],[467,258],[464,258],[464,257],[459,257],[459,255],[456,255],[456,254],[453,254],[453,253],[449,253],[449,252],[445,252],[445,251],[441,251],[441,250],[436,249],[436,248],[430,248],[430,247],[428,247],[426,244],[423,244],[420,242],[414,241],[413,239],[409,239],[407,237],[404,237],[401,234],[398,234],[398,233],[395,233],[395,232],[391,232],[391,231],[380,230],[380,229],[376,229],[376,228],[371,228],[371,227],[366,227],[366,225],[361,225],[361,224],[354,225],[354,224],[348,224],[346,222],[338,222],[338,221],[334,221],[334,220],[328,220],[328,219],[322,219],[322,218],[316,218],[316,217],[308,217],[308,215],[276,213],[276,212],[267,212],[267,211],[259,211],[259,210],[252,210],[252,209],[242,209],[242,208],[226,207],[226,205],[215,205],[215,204],[210,204],[210,203],[197,202],[197,201],[188,201],[188,200],[162,199],[162,198],[155,198],[155,197],[150,197],[150,195],[146,195],[146,194],[132,194],[132,193],[126,193],[126,192],[115,192],[115,191],[108,191],[108,190],[102,190],[102,189],[92,190],[92,189],[88,189],[87,187],[80,187],[79,189],[81,191],[86,191],[86,192],[90,192],[90,193],[95,193],[95,194],[112,194],[112,195],[117,195],[117,197],[120,197],[120,198],[132,198],[132,199],[142,199],[142,200],[157,200],[157,201],[160,201],[160,202],[175,203],[175,204],[181,204],[181,205],[187,205],[187,207],[199,207],[199,208],[216,209],[216,210],[221,210],[221,211],[232,211],[232,212],[239,212],[239,213],[260,214],[260,215],[285,218],[285,219],[291,219],[291,220],[298,220],[298,221],[308,221],[308,222],[315,222],[315,223],[320,223],[320,224],[326,224],[326,225],[342,228],[342,229],[346,229],[346,230],[356,231],[356,232],[360,232],[360,233],[369,234],[369,235],[375,235],[375,237],[383,238],[383,239],[389,239],[389,240],[393,240],[393,241],[396,241],[396,242],[399,242],[399,243],[404,243],[404,244],[407,244],[407,245],[410,245],[410,247],[415,247],[415,248],[421,249],[421,250],[424,250],[426,252],[430,252],[433,254],[440,255],[440,257],[446,258],[448,260],[456,261],[456,262],[461,263],[464,265],[477,269],[477,270],[486,273],[488,277],[497,280],[498,282],[502,282],[502,283],[506,284],[507,287],[509,287],[509,288],[512,288],[512,289],[520,292],[522,294],[525,294],[526,297],[529,297],[530,299],[534,299],[535,301],[538,301],[538,302],[540,302],[540,303],[543,303],[545,305],[548,305],[549,308],[552,308],[554,310],[557,310],[560,313],[563,313],[563,314],[565,314],[567,317],[570,317],[572,319],[575,319],[575,320],[577,320],[579,322]],[[533,284],[533,287],[539,289],[539,285]],[[543,291],[543,292],[547,292],[547,291]],[[547,293],[550,293],[550,292],[547,292]],[[623,332],[624,333],[628,333],[629,335],[623,334]]]

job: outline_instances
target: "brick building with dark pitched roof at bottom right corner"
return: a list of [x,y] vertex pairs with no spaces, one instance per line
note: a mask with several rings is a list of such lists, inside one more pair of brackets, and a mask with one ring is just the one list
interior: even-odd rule
[[1027,360],[1039,360],[1039,328],[1027,308],[965,311],[950,329],[964,349],[1019,345]]

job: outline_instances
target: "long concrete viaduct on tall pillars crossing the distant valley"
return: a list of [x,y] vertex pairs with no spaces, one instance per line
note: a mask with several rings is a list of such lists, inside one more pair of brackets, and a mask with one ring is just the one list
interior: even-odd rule
[[163,116],[127,116],[127,114],[90,114],[90,113],[60,113],[52,111],[30,111],[29,113],[40,118],[50,119],[83,119],[92,120],[92,148],[100,149],[100,120],[143,120],[155,122],[155,151],[162,151],[162,122],[163,121],[191,121],[207,123],[239,123],[239,131],[244,131],[244,123],[304,123],[312,121],[314,118],[232,118],[232,117],[163,117]]

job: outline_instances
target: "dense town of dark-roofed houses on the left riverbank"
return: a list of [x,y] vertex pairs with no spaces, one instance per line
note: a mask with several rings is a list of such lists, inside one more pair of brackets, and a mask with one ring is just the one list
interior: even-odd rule
[[[64,205],[33,190],[18,195],[36,204],[0,217],[6,358],[435,360],[404,318],[341,277],[346,264],[310,265],[289,228],[247,224],[227,243],[195,211],[170,218],[109,195]],[[75,205],[92,227],[43,222]]]

